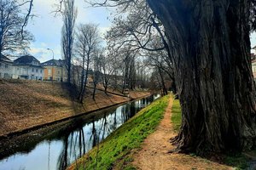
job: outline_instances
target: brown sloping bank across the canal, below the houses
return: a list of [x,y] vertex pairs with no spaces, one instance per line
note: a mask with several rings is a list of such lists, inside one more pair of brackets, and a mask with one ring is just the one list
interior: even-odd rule
[[[0,80],[0,137],[131,100],[120,95],[106,95],[100,90],[96,91],[96,100],[93,100],[88,90],[81,105],[69,92],[65,84],[58,82]],[[131,92],[135,99],[148,95],[148,92]]]

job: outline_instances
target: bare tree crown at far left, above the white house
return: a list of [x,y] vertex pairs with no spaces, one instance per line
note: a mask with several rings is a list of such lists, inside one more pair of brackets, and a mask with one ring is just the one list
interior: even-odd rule
[[[30,3],[29,1],[27,3]],[[32,3],[32,2],[31,2]],[[21,52],[28,48],[32,34],[24,30],[30,16],[21,13],[26,3],[15,0],[0,1],[0,58],[2,54]],[[30,13],[31,9],[29,10]]]

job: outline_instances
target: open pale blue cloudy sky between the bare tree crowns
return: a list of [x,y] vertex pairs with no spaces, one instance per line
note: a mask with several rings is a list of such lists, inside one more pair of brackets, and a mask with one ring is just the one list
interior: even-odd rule
[[[29,54],[41,62],[52,59],[53,54],[47,48],[54,51],[54,58],[61,59],[61,27],[63,25],[61,16],[55,16],[56,0],[35,0],[32,13],[36,15],[26,30],[35,37],[31,43]],[[111,22],[108,20],[113,8],[92,8],[84,0],[76,0],[78,8],[76,24],[94,23],[98,25],[101,34],[108,31]],[[102,35],[103,36],[103,35]]]

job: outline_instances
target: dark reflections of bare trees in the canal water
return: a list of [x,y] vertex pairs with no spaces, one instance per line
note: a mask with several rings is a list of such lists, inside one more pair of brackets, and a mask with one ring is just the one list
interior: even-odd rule
[[[114,111],[113,114],[107,115],[104,113],[100,120],[95,120],[93,117],[90,124],[84,126],[82,122],[73,122],[76,125],[76,131],[67,133],[61,138],[63,148],[58,159],[58,169],[66,169],[72,161],[76,161],[83,156],[92,147],[95,147],[102,139],[105,139],[109,133],[113,132],[119,123],[123,124],[128,121],[131,116],[134,116],[141,107],[148,105],[154,100],[154,97],[141,99],[136,102],[131,102],[122,105],[120,114]],[[118,116],[119,115],[119,116]],[[89,139],[85,138],[84,127],[90,128]],[[87,148],[85,147],[87,144]]]

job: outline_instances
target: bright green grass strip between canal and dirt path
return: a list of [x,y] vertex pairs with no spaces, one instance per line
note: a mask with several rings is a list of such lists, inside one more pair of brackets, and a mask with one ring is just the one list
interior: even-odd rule
[[131,166],[132,156],[159,125],[170,97],[157,99],[139,111],[69,169],[135,169]]

